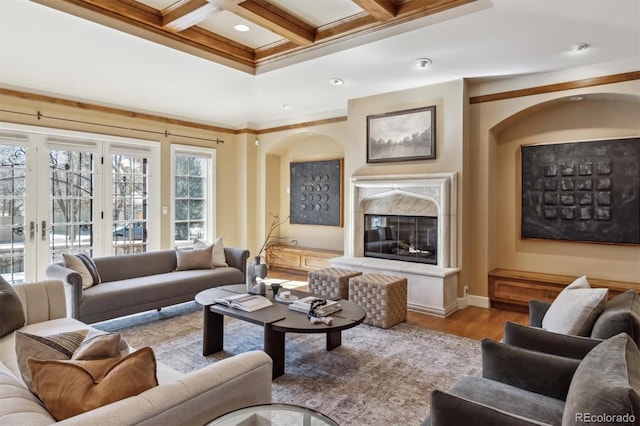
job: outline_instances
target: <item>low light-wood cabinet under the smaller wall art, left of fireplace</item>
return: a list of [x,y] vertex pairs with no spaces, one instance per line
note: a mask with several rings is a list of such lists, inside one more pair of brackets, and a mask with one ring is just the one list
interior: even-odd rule
[[329,259],[342,256],[341,251],[298,246],[271,246],[266,250],[270,268],[293,272],[309,272],[328,268]]

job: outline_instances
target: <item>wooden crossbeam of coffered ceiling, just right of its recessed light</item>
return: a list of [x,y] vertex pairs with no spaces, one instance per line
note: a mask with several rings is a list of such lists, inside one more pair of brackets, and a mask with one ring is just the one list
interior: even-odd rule
[[209,1],[299,46],[311,46],[315,41],[315,29],[311,25],[264,0]]

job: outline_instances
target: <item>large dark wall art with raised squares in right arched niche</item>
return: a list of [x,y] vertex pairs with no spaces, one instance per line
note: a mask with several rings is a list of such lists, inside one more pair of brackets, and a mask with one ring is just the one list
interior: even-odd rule
[[522,238],[640,244],[640,138],[521,151]]

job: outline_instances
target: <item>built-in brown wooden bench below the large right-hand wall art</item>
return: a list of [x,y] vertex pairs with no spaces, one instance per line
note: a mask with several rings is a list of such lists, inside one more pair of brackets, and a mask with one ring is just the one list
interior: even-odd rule
[[[542,274],[539,272],[494,269],[489,272],[489,300],[491,306],[527,312],[529,300],[553,301],[558,293],[576,278],[570,275]],[[640,283],[590,278],[591,287],[606,287],[609,298],[629,289],[640,291]]]

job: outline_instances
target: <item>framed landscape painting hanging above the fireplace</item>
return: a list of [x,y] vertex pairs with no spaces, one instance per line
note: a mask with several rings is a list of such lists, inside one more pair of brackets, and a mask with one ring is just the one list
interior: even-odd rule
[[367,163],[436,158],[436,107],[367,116]]

